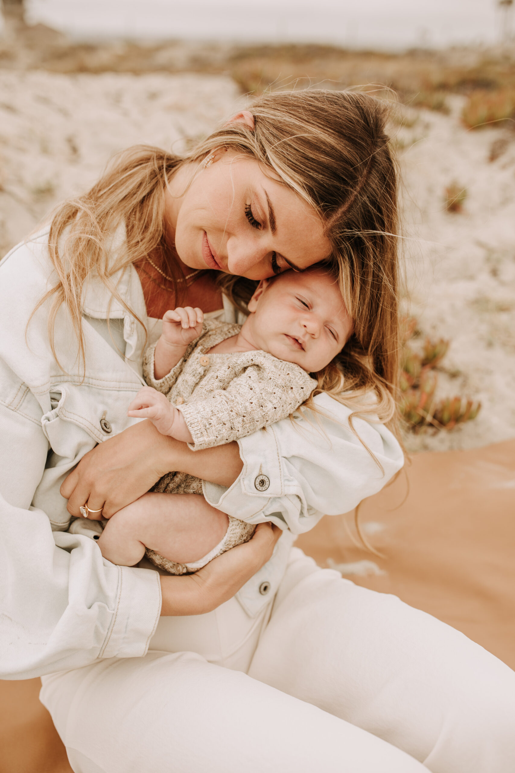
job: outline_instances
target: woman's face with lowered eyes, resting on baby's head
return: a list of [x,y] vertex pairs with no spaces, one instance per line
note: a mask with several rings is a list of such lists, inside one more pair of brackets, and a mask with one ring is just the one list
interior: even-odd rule
[[180,169],[166,192],[168,230],[187,266],[266,279],[329,257],[315,210],[253,158],[215,152],[180,196],[191,171]]

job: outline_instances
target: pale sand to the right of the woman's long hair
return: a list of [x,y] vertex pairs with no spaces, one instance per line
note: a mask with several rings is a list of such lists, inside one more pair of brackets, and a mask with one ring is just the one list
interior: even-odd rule
[[[464,99],[451,114],[407,111],[398,131],[404,181],[405,308],[423,334],[451,340],[439,393],[481,400],[475,421],[450,433],[412,438],[408,448],[476,448],[515,436],[515,135],[467,130]],[[493,145],[502,150],[490,162]],[[444,192],[467,191],[462,213],[448,213]]]

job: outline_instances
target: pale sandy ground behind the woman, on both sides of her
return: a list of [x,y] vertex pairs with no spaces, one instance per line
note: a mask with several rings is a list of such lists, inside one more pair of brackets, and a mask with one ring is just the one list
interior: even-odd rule
[[[450,433],[408,437],[410,451],[515,437],[515,138],[467,131],[462,97],[448,101],[449,115],[400,110],[390,128],[403,180],[405,311],[422,335],[452,341],[439,393],[483,409]],[[184,152],[243,104],[224,76],[0,70],[0,254],[87,189],[115,152],[137,142]],[[506,147],[490,162],[499,140]],[[444,207],[453,181],[468,192],[460,214]]]

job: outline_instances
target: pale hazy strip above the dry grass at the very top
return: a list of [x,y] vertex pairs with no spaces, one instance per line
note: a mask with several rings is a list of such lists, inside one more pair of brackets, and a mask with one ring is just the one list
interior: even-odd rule
[[335,43],[399,50],[496,42],[496,0],[25,0],[29,22],[82,39]]

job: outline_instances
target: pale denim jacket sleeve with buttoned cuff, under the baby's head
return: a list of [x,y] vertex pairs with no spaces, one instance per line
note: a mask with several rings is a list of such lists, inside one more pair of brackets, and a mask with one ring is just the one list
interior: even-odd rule
[[241,438],[241,475],[229,489],[204,483],[208,502],[248,523],[269,520],[300,534],[382,489],[404,464],[393,434],[361,419],[354,434],[350,408],[326,394],[314,400],[320,414]]

